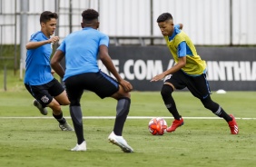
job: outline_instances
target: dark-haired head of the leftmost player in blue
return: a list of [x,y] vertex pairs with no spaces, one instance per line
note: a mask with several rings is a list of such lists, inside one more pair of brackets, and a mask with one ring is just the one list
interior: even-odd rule
[[57,25],[58,15],[50,11],[44,11],[40,15],[41,31],[47,36],[54,34]]

